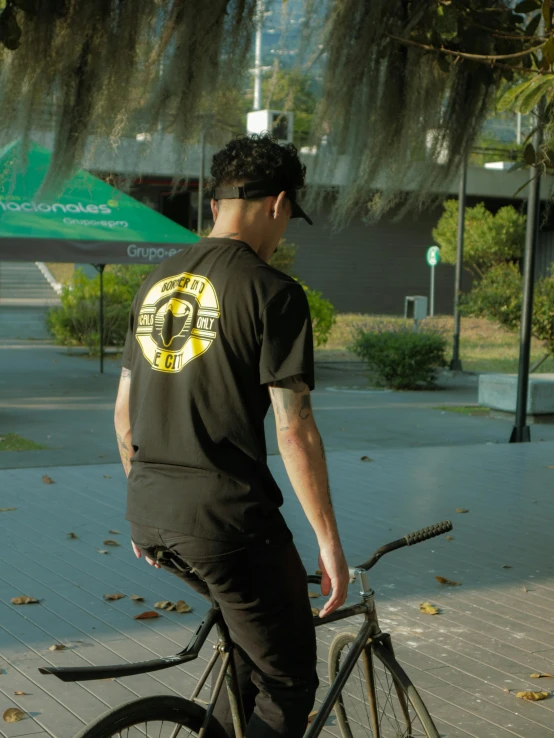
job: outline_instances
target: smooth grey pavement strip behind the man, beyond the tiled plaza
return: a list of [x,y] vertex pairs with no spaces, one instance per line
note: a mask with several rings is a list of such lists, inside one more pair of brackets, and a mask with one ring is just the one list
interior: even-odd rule
[[[117,462],[113,406],[120,363],[71,355],[45,341],[0,339],[0,435],[18,433],[44,451],[3,452],[0,468]],[[477,402],[476,377],[445,378],[433,392],[364,390],[363,368],[318,364],[313,405],[329,451],[505,443],[505,420],[437,410]],[[277,453],[271,413],[268,451]],[[532,428],[533,440],[554,441],[554,425]]]

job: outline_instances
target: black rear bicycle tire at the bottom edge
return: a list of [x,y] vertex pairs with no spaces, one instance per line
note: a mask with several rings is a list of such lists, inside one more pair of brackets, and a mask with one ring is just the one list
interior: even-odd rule
[[[191,732],[189,735],[197,735],[205,717],[206,710],[203,707],[182,697],[173,697],[171,695],[142,697],[108,710],[96,720],[86,725],[75,738],[112,738],[115,735],[122,736],[123,731],[129,731],[134,726],[148,723],[182,725],[184,728],[190,729]],[[155,734],[158,736],[158,731],[155,731]],[[145,738],[149,738],[148,733],[144,735]],[[180,738],[185,738],[185,735],[179,732]],[[227,733],[213,717],[210,721],[206,738],[227,738]]]

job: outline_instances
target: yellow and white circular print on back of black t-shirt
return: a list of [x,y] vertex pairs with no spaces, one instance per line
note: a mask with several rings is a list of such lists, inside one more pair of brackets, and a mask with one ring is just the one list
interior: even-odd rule
[[183,272],[150,288],[140,307],[135,337],[152,369],[175,374],[210,348],[220,314],[210,280]]

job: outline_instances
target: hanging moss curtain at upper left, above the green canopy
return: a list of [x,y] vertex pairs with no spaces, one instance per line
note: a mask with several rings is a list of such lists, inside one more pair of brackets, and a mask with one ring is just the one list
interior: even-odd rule
[[256,0],[3,4],[0,130],[25,144],[37,129],[54,131],[48,190],[83,161],[91,135],[117,148],[137,131],[171,132],[182,165],[186,143],[224,115],[218,106],[239,86],[256,8]]

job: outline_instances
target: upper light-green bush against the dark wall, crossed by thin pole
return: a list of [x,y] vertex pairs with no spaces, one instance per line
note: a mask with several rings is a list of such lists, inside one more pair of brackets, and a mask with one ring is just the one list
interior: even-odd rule
[[[493,215],[484,203],[466,208],[464,266],[475,277],[482,277],[496,264],[521,258],[525,243],[525,215],[511,205]],[[444,213],[433,230],[433,238],[441,248],[447,264],[456,263],[458,201],[446,200]]]

